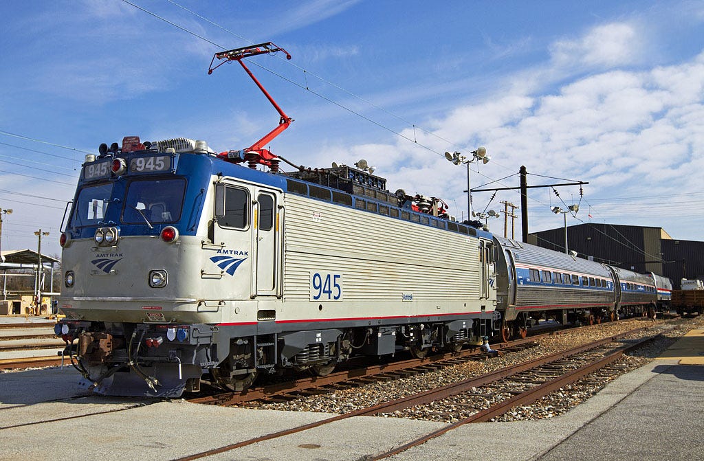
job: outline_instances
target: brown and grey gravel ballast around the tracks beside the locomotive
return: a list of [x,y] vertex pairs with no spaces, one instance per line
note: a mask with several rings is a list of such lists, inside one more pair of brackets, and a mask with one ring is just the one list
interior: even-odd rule
[[[505,353],[503,357],[490,358],[482,361],[469,361],[461,365],[453,365],[442,370],[416,374],[410,377],[396,379],[394,381],[383,381],[373,384],[365,384],[351,389],[341,389],[330,393],[315,396],[301,397],[285,403],[264,403],[246,406],[269,410],[288,410],[304,412],[328,412],[347,413],[372,405],[395,400],[415,393],[435,389],[440,386],[453,384],[457,381],[470,379],[494,372],[503,367],[516,365],[521,362],[534,360],[544,355],[566,351],[581,344],[596,341],[597,339],[615,336],[624,331],[639,327],[650,327],[647,331],[642,331],[629,336],[628,339],[639,339],[651,336],[653,332],[660,332],[660,339],[650,341],[645,346],[624,355],[617,360],[608,372],[596,372],[581,379],[580,381],[565,386],[551,393],[550,395],[536,401],[532,405],[524,405],[513,408],[501,417],[493,421],[517,421],[528,419],[546,419],[561,415],[571,408],[584,402],[603,387],[621,374],[635,370],[638,367],[650,362],[684,336],[687,331],[703,327],[704,316],[693,319],[682,319],[666,322],[657,320],[652,322],[648,319],[637,319],[622,322],[609,322],[605,324],[593,325],[585,329],[574,331],[562,330],[560,334],[537,339],[539,346],[525,349],[514,353]],[[529,387],[529,386],[527,386]],[[509,398],[511,395],[502,392],[491,391],[491,389],[472,389],[471,393],[455,396],[451,399],[434,402],[422,407],[407,408],[394,413],[384,414],[382,417],[403,417],[410,419],[422,419],[434,422],[456,422],[472,415],[475,412],[488,408],[495,403]]]

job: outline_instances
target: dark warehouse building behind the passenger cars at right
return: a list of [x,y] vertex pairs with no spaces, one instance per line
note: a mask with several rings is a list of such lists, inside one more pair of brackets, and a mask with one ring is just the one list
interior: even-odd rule
[[[565,228],[529,234],[528,243],[565,251]],[[580,258],[672,279],[704,279],[704,242],[673,239],[662,227],[585,223],[567,227],[567,248]]]

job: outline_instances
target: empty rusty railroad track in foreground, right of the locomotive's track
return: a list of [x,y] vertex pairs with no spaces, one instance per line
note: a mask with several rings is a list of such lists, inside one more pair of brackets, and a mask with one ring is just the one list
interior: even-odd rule
[[[620,358],[627,351],[641,346],[643,342],[659,336],[659,334],[656,334],[641,341],[627,344],[613,344],[616,341],[620,341],[620,339],[625,336],[637,333],[643,329],[645,328],[627,331],[606,339],[593,341],[585,344],[584,346],[572,348],[568,351],[547,355],[529,362],[514,365],[512,367],[505,367],[501,370],[496,370],[496,372],[482,375],[481,377],[465,379],[438,389],[416,393],[412,396],[391,400],[389,402],[374,405],[368,408],[362,408],[360,410],[345,413],[344,415],[337,415],[327,419],[322,419],[318,422],[304,424],[302,426],[284,431],[277,431],[272,434],[266,434],[264,436],[251,438],[246,441],[232,443],[227,446],[212,448],[201,453],[194,453],[177,458],[175,461],[197,460],[202,457],[225,453],[227,451],[248,446],[253,443],[267,441],[272,438],[287,436],[289,434],[295,434],[296,432],[306,431],[307,429],[313,429],[315,427],[320,427],[324,424],[330,424],[349,417],[386,415],[389,413],[398,412],[398,410],[417,407],[418,405],[428,405],[429,403],[442,401],[455,396],[463,396],[463,394],[467,397],[471,397],[472,394],[477,393],[483,394],[484,396],[489,394],[493,396],[503,395],[503,398],[497,398],[496,400],[498,401],[491,403],[488,408],[472,408],[470,410],[472,414],[460,419],[458,422],[448,424],[444,428],[429,433],[421,438],[417,438],[414,441],[410,441],[404,446],[400,446],[394,450],[390,450],[389,452],[380,453],[379,455],[366,458],[367,460],[380,460],[400,453],[403,450],[407,450],[412,446],[425,443],[425,441],[430,438],[444,434],[447,431],[451,431],[452,429],[455,429],[463,424],[488,421],[493,417],[503,414],[516,405],[523,405],[525,403],[538,400],[542,396],[551,393],[553,390],[559,389],[561,386],[577,381],[591,372],[601,370],[610,365],[612,362],[615,362],[615,360],[618,360],[618,358]],[[509,383],[513,384],[512,386],[507,387]],[[486,389],[484,386],[494,387],[492,390]]]

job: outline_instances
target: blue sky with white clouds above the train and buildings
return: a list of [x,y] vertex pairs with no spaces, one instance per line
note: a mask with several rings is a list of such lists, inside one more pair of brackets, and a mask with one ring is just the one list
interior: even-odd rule
[[[472,187],[526,165],[529,184],[589,182],[568,225],[704,239],[702,2],[132,3],[153,15],[120,0],[0,2],[4,250],[36,248],[41,228],[59,253],[65,202],[101,142],[189,137],[225,151],[275,127],[239,65],[207,74],[220,46],[268,41],[291,61],[250,67],[296,120],[270,145],[295,163],[365,158],[392,191],[439,196],[460,218],[466,169],[443,153],[484,145],[491,162],[472,166]],[[561,227],[550,207],[579,202],[579,187],[558,191],[530,191],[531,232]],[[472,198],[477,211],[520,205],[516,191]]]

